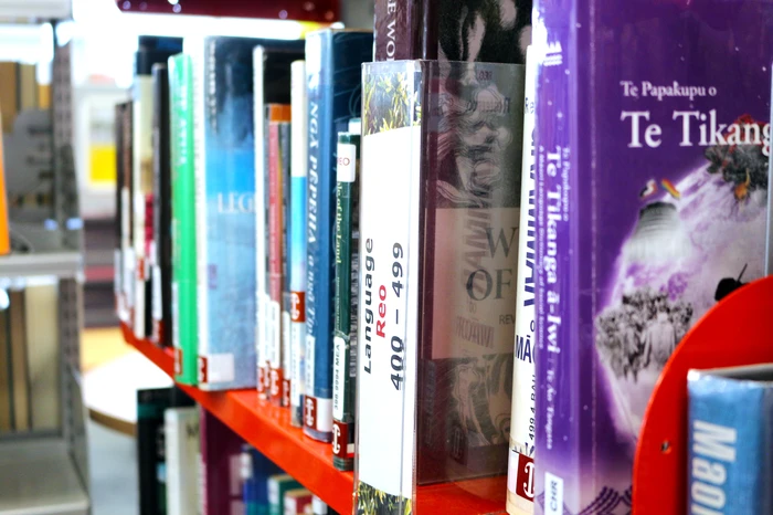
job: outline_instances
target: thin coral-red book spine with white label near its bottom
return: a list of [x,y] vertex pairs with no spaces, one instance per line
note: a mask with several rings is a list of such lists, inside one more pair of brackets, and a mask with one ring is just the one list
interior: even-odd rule
[[282,156],[279,123],[268,124],[268,283],[271,291],[268,338],[268,398],[282,404]]

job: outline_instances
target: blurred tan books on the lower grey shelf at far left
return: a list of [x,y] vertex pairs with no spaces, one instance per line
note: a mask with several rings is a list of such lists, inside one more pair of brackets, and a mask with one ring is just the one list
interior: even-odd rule
[[59,287],[35,278],[0,291],[0,434],[61,425]]

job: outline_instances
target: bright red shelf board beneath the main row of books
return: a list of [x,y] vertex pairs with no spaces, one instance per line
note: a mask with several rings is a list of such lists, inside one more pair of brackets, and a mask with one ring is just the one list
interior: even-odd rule
[[[169,348],[136,338],[121,323],[124,338],[169,376],[173,356]],[[352,513],[353,475],[332,466],[330,444],[313,441],[289,424],[289,412],[260,400],[254,390],[224,392],[180,387],[204,409],[222,420],[305,487],[340,514]],[[420,486],[415,513],[419,515],[505,514],[507,477],[489,477]],[[505,514],[506,515],[506,514]]]

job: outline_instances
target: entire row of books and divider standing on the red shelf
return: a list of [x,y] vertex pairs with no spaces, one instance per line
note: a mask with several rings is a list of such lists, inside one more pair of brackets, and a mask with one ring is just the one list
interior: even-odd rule
[[526,57],[530,2],[437,3],[157,67],[171,195],[126,181],[119,311],[151,334],[137,220],[171,198],[177,380],[257,387],[336,453],[357,432],[358,509],[509,461],[512,514],[625,511],[663,368],[763,273],[770,8],[538,1]]

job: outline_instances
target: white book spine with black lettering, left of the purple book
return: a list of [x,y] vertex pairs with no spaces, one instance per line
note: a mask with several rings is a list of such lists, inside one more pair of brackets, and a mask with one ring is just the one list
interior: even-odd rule
[[516,285],[516,358],[512,369],[512,418],[508,463],[507,512],[534,511],[534,97],[537,56],[527,54],[523,103],[523,159]]

